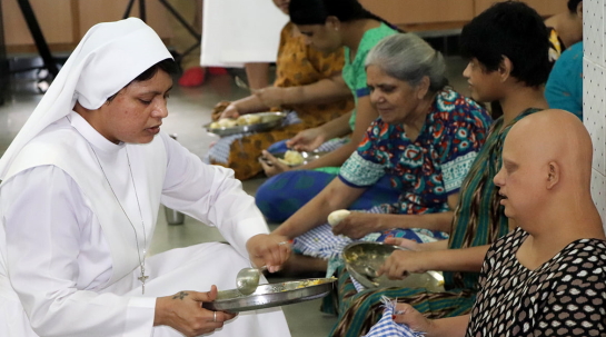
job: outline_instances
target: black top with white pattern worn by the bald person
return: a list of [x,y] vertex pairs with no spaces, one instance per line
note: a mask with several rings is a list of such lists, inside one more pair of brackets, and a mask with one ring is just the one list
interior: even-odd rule
[[484,259],[466,336],[606,336],[606,241],[576,240],[536,270],[516,258],[520,228]]

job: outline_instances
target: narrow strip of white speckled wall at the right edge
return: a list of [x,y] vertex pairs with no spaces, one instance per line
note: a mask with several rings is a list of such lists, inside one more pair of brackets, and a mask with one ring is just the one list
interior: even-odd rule
[[584,0],[583,122],[594,142],[592,196],[606,229],[606,1]]

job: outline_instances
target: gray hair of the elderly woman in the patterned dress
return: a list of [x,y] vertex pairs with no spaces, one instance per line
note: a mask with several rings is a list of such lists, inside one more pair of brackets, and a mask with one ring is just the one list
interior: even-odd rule
[[377,66],[390,77],[416,87],[429,78],[429,90],[438,91],[448,85],[446,63],[441,53],[413,33],[397,33],[384,38],[366,57],[365,66]]

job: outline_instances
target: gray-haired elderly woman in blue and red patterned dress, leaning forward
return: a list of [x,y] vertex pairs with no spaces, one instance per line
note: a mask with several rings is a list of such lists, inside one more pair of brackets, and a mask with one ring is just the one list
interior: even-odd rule
[[[338,178],[274,232],[294,238],[304,255],[322,259],[338,257],[351,239],[376,239],[381,231],[418,238],[409,230],[388,234],[394,228],[420,228],[415,230],[429,237],[448,232],[460,184],[491,120],[476,102],[446,87],[445,69],[441,54],[415,34],[395,34],[372,48],[367,81],[380,117]],[[332,229],[326,224],[331,211],[349,207],[384,176],[400,191],[397,204],[352,212]],[[322,268],[321,261],[306,265]]]

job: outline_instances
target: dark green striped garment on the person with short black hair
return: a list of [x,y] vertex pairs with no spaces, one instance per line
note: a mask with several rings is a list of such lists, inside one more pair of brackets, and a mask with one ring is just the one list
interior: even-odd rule
[[[509,231],[493,178],[500,168],[500,153],[507,132],[515,122],[536,111],[538,109],[527,109],[506,126],[503,118],[495,121],[460,188],[448,242],[450,249],[490,245]],[[468,314],[475,301],[479,278],[477,272],[444,272],[444,293],[431,293],[425,288],[370,289],[358,293],[345,268],[337,272],[337,294],[325,298],[322,310],[338,311],[339,321],[330,336],[339,337],[366,334],[380,318],[383,296],[408,303],[429,318]]]

